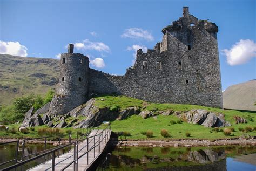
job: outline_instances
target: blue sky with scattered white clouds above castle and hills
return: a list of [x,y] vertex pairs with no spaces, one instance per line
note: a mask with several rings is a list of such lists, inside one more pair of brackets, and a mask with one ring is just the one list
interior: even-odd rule
[[[182,16],[183,6],[195,17],[209,19],[219,27],[223,90],[255,79],[253,0],[0,0],[0,53],[12,53],[17,47],[15,54],[21,56],[57,58],[66,52],[67,44],[76,43],[75,52],[89,56],[91,67],[124,74],[132,65],[134,49],[153,49],[162,39],[161,29]],[[237,51],[240,47],[245,48],[241,54]]]

